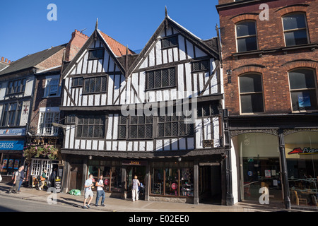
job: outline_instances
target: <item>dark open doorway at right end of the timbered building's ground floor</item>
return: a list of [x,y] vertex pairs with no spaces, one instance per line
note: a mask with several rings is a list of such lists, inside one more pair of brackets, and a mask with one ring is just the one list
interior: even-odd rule
[[199,203],[220,204],[222,198],[220,165],[199,167]]

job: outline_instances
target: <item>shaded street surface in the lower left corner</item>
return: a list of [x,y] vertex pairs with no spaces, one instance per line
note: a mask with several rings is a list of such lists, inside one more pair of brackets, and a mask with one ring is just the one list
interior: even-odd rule
[[52,204],[30,201],[22,198],[0,196],[0,212],[104,212],[97,210],[84,210],[81,206]]

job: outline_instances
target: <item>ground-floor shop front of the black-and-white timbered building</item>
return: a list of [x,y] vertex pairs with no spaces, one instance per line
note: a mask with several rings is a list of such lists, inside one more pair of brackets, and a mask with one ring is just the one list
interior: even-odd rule
[[[200,163],[181,157],[145,160],[68,155],[67,160],[69,167],[64,177],[69,178],[69,182],[66,182],[65,192],[71,189],[83,192],[83,182],[93,174],[95,181],[103,176],[106,196],[129,199],[132,179],[136,175],[141,182],[141,200],[194,203],[195,196],[204,202],[217,195],[217,203],[221,203],[220,163],[207,158]],[[95,189],[93,186],[93,191]]]

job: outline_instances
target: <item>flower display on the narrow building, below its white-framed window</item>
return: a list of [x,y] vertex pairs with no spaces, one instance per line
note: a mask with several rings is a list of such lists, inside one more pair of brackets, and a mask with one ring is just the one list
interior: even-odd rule
[[23,150],[23,157],[25,160],[30,161],[32,157],[48,157],[50,160],[57,159],[58,149],[52,145],[34,145],[30,144]]

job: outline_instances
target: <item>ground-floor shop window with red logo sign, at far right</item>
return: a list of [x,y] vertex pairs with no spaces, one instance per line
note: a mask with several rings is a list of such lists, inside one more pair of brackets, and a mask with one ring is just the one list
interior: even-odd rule
[[291,133],[284,140],[291,204],[317,207],[318,132]]

